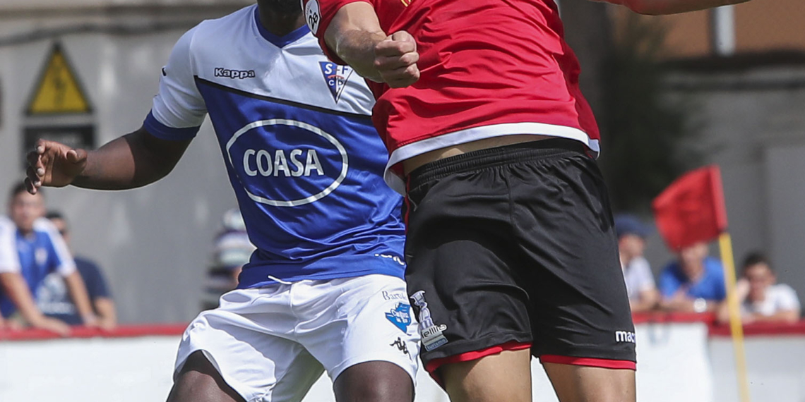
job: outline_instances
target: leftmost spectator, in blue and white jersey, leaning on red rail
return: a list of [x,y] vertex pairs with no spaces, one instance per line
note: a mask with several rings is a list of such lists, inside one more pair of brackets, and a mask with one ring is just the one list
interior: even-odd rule
[[12,188],[10,219],[0,218],[0,313],[8,318],[19,312],[30,326],[66,335],[69,326],[42,314],[34,299],[35,290],[49,273],[64,277],[81,323],[94,326],[97,318],[67,245],[43,214],[42,195],[31,195],[23,183]]

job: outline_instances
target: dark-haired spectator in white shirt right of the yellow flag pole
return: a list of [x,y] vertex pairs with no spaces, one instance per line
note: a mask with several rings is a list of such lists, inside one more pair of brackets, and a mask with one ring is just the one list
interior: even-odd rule
[[[796,322],[799,320],[799,298],[791,286],[777,284],[769,260],[760,252],[746,256],[742,277],[737,283],[741,319],[749,322]],[[729,310],[723,306],[719,320],[729,321]]]

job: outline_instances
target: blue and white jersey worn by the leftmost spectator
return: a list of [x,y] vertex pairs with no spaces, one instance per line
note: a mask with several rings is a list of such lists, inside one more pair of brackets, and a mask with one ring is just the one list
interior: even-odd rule
[[[59,231],[44,218],[36,219],[27,236],[5,216],[0,217],[0,273],[19,273],[31,296],[49,273],[67,277],[76,271],[76,263]],[[8,317],[16,310],[14,302],[0,289],[0,313]]]

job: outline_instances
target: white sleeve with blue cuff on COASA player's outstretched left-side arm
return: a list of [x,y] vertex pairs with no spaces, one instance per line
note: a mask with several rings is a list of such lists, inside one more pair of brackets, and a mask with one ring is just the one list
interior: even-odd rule
[[192,139],[207,115],[192,64],[192,41],[197,29],[182,35],[162,68],[159,93],[143,122],[143,127],[155,137],[172,141]]

